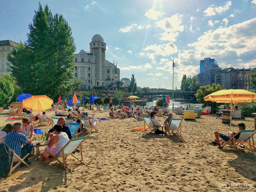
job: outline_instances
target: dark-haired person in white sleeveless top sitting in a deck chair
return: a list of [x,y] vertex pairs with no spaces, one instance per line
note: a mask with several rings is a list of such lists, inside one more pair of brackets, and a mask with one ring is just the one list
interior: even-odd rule
[[40,160],[48,160],[49,156],[56,156],[56,154],[69,142],[69,137],[67,133],[62,132],[62,125],[56,124],[53,127],[54,134],[49,134],[49,144],[47,147],[45,147],[43,156],[40,157]]

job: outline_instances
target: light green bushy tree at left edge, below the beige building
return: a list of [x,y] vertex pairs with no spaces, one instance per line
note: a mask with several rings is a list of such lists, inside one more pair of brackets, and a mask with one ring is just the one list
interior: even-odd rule
[[14,79],[9,75],[5,74],[0,77],[0,106],[8,104],[14,94]]

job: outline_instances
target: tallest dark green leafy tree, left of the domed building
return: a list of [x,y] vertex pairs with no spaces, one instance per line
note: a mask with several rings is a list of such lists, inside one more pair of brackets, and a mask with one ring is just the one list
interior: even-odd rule
[[12,75],[26,93],[57,100],[81,82],[72,83],[75,44],[71,28],[62,15],[52,15],[48,6],[39,3],[28,40],[8,56]]

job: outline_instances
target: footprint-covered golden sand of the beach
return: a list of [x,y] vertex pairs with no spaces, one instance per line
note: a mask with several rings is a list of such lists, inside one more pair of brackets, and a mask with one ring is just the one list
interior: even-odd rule
[[[46,115],[55,116],[54,111]],[[9,110],[0,114],[0,129],[7,123],[22,122],[8,117]],[[109,118],[109,113],[98,112],[98,117]],[[173,117],[183,116],[173,113]],[[163,122],[166,116],[157,119]],[[246,117],[232,119],[231,131],[237,132],[240,122],[247,130],[254,129],[254,118]],[[229,146],[218,149],[209,144],[215,130],[230,130],[229,123],[223,124],[216,115],[183,120],[183,139],[179,135],[131,132],[143,125],[144,121],[134,118],[98,122],[99,132],[83,143],[88,166],[69,172],[57,161],[36,161],[34,154],[30,166],[16,168],[0,182],[0,191],[221,191],[222,184],[230,185],[230,191],[256,191],[256,156],[239,146],[236,152]],[[51,126],[34,127],[48,131]]]

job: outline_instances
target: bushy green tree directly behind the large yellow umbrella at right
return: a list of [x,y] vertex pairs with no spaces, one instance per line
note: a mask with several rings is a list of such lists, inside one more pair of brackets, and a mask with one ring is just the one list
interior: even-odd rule
[[207,86],[201,86],[198,90],[197,93],[195,94],[195,97],[197,98],[197,101],[203,104],[203,107],[205,106],[212,106],[212,108],[217,108],[217,106],[219,105],[223,105],[223,103],[215,103],[212,101],[204,101],[204,97],[214,93],[216,91],[222,90],[223,89],[223,85],[216,85],[216,84],[212,84],[211,85],[207,85]]

